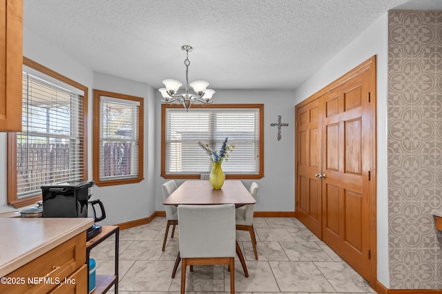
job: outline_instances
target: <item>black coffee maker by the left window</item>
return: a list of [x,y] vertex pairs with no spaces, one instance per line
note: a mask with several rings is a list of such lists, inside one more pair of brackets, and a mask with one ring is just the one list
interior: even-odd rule
[[[95,222],[106,218],[103,203],[97,200],[89,201],[93,194],[94,181],[61,182],[58,184],[41,186],[43,196],[44,218],[87,218],[92,215]],[[97,216],[96,205],[101,211]],[[92,211],[88,211],[88,206]],[[88,213],[89,212],[89,213]],[[94,224],[86,232],[86,240],[94,238],[102,232],[102,227]]]

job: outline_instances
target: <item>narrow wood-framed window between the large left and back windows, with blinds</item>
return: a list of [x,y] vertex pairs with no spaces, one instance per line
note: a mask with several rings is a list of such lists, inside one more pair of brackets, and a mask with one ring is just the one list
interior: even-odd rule
[[94,90],[97,186],[143,180],[143,98]]

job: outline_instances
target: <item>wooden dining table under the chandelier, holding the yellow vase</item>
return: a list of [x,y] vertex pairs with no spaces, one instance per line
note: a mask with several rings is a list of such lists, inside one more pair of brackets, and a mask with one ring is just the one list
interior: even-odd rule
[[[247,204],[255,204],[256,200],[251,196],[249,190],[244,187],[240,180],[225,180],[222,188],[218,190],[212,188],[209,180],[186,180],[163,201],[164,205],[175,206],[180,204],[215,205],[229,203],[235,204],[238,208]],[[236,241],[236,254],[241,262],[244,275],[249,277],[244,255],[242,255],[238,241]],[[178,253],[175,266],[173,267],[172,277],[175,277],[175,272],[178,264],[180,264],[180,260],[180,253]]]

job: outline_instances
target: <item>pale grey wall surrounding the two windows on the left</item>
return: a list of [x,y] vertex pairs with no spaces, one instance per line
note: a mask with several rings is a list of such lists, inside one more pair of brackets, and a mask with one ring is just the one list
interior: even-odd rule
[[[100,224],[118,224],[150,216],[155,211],[153,88],[144,83],[93,72],[28,30],[23,32],[23,55],[88,87],[88,180],[92,180],[93,170],[93,89],[144,98],[144,180],[129,185],[95,186],[93,199],[102,200],[106,209],[107,217]],[[17,210],[8,206],[6,200],[6,141],[6,133],[0,133],[0,212]]]

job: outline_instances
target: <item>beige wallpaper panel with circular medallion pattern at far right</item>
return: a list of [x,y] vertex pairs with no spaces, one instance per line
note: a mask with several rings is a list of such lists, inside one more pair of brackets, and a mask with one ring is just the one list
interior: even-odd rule
[[441,289],[442,10],[392,10],[388,30],[390,288]]

